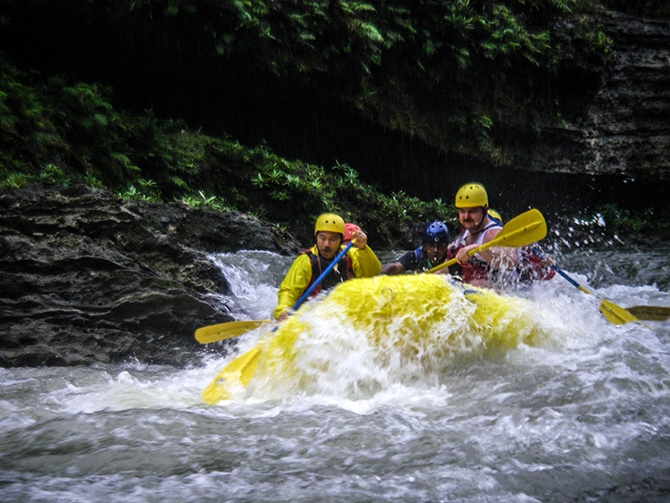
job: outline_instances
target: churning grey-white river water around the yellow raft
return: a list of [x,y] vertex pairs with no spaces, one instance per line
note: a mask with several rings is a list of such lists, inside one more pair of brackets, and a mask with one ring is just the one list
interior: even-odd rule
[[[618,306],[670,306],[668,251],[557,257]],[[290,259],[213,260],[234,290],[221,301],[268,317]],[[0,501],[670,500],[670,322],[615,326],[558,276],[517,295],[543,320],[540,343],[456,348],[425,376],[353,358],[358,379],[386,373],[355,391],[324,372],[309,390],[208,406],[201,392],[231,358],[215,352],[187,369],[0,369]],[[355,343],[346,326],[322,330]],[[339,362],[342,348],[321,353]]]

